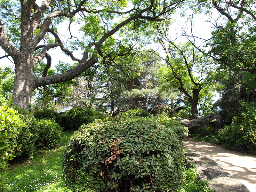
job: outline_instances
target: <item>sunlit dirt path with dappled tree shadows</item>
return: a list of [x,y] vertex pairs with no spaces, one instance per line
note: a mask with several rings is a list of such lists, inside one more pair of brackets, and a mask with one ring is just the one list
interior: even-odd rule
[[192,141],[192,138],[186,138],[184,146],[216,161],[251,192],[256,192],[256,156],[230,151],[221,145]]

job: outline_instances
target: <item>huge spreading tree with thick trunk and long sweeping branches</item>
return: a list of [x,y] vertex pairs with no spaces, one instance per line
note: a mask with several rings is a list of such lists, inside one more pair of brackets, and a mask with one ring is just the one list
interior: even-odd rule
[[[36,88],[73,79],[100,59],[128,54],[132,42],[151,34],[152,26],[168,19],[183,1],[46,0],[41,5],[35,0],[1,1],[0,46],[15,64],[14,104],[28,109]],[[127,6],[131,8],[127,10]],[[70,30],[72,23],[80,25],[83,37],[76,39],[71,34],[69,45],[82,50],[81,58],[76,58],[61,40],[58,24],[64,21],[70,22]],[[121,40],[113,37],[117,31]],[[48,76],[52,64],[48,51],[57,47],[77,64],[69,71]],[[110,50],[115,50],[115,55],[108,54]],[[36,78],[34,68],[44,58],[44,76]]]

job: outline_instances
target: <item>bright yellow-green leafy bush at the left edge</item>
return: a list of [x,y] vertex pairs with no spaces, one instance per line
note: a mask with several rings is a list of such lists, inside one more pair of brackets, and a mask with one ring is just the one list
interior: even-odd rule
[[16,110],[6,106],[0,107],[0,122],[0,191],[2,192],[11,189],[7,184],[11,179],[6,178],[9,172],[5,172],[9,165],[8,160],[12,160],[15,157],[15,151],[22,147],[21,144],[18,146],[11,139],[26,125],[23,124]]

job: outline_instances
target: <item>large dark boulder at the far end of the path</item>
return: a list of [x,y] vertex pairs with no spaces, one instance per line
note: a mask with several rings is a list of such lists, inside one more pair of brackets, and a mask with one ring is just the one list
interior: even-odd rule
[[190,134],[198,133],[198,129],[207,129],[212,132],[212,134],[217,134],[217,131],[221,128],[222,117],[218,113],[213,113],[204,117],[197,119],[175,119],[176,121],[181,122],[182,125],[188,127]]

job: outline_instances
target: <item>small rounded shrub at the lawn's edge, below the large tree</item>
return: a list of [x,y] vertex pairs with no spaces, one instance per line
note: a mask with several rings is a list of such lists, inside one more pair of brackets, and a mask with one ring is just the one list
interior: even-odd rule
[[60,146],[62,128],[51,119],[41,119],[38,122],[37,148],[53,149]]

